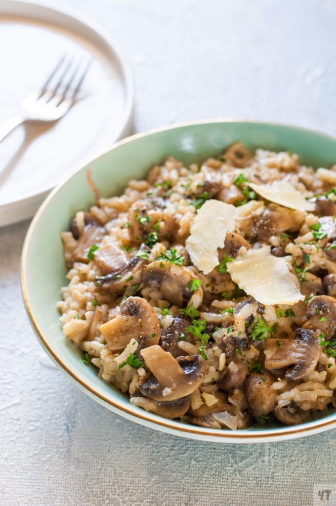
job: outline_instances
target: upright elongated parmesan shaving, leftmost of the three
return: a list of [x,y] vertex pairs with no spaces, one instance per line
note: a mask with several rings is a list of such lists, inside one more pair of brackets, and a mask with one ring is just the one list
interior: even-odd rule
[[207,200],[194,217],[186,248],[192,263],[211,272],[218,264],[218,248],[224,246],[225,235],[234,229],[237,208],[220,200]]

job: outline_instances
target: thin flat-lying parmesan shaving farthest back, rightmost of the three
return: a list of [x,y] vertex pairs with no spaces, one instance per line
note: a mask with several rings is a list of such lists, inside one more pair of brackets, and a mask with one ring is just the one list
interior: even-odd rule
[[313,211],[315,209],[315,204],[308,202],[287,181],[273,181],[270,185],[248,184],[258,195],[270,200],[270,202],[289,207],[289,209],[297,209],[298,211]]

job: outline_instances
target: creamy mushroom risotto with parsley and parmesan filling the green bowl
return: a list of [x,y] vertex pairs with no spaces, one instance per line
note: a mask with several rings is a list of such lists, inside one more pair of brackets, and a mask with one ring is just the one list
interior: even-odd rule
[[[94,188],[93,182],[89,183]],[[62,233],[63,332],[105,382],[215,429],[336,407],[336,165],[170,157]]]

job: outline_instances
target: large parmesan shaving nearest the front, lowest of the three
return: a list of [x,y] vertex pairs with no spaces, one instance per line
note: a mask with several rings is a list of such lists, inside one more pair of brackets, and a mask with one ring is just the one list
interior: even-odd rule
[[227,264],[232,280],[261,304],[293,305],[304,301],[297,277],[284,258],[274,257],[270,246],[241,247],[235,260]]

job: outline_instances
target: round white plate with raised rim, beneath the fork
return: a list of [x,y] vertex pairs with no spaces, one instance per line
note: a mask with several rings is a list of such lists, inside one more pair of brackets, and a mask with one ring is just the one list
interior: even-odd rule
[[30,218],[74,169],[131,133],[130,68],[108,33],[54,8],[0,0],[0,124],[64,54],[94,62],[78,102],[52,125],[19,126],[0,143],[0,226]]

